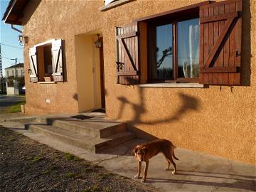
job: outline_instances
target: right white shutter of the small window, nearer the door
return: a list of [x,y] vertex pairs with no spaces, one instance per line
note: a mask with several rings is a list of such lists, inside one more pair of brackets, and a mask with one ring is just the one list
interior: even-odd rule
[[52,65],[53,65],[53,81],[63,81],[63,56],[62,41],[55,40],[52,43]]

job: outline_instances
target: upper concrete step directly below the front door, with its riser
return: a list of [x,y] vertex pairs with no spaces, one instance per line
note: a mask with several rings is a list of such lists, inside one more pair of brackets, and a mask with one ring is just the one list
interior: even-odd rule
[[47,119],[47,124],[98,138],[107,138],[112,134],[126,132],[125,124],[110,122],[105,119],[86,119],[82,121],[71,118],[63,120]]

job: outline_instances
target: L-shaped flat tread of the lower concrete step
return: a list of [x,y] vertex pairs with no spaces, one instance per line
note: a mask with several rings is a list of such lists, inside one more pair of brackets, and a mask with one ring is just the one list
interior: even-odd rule
[[55,127],[53,125],[33,124],[33,126],[39,127],[41,129],[46,129],[47,131],[53,132],[55,134],[62,134],[65,137],[70,137],[72,139],[79,140],[80,142],[91,143],[94,145],[97,145],[97,144],[100,144],[103,142],[108,142],[112,139],[117,139],[119,137],[128,137],[128,136],[133,135],[132,132],[121,132],[121,133],[117,133],[117,134],[112,134],[110,137],[107,137],[107,138],[97,138],[97,137],[90,137],[87,134],[81,134],[80,132],[74,132],[71,130],[62,129],[60,127]]

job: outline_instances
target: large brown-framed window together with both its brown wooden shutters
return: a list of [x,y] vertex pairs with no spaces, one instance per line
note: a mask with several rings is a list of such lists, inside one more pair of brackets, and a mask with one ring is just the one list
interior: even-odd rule
[[242,0],[205,1],[116,28],[117,83],[240,85]]

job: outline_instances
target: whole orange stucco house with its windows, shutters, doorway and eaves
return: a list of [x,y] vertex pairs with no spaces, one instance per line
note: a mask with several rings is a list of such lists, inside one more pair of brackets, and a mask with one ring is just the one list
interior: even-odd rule
[[255,6],[11,0],[4,22],[28,37],[26,112],[104,107],[138,137],[256,164]]

